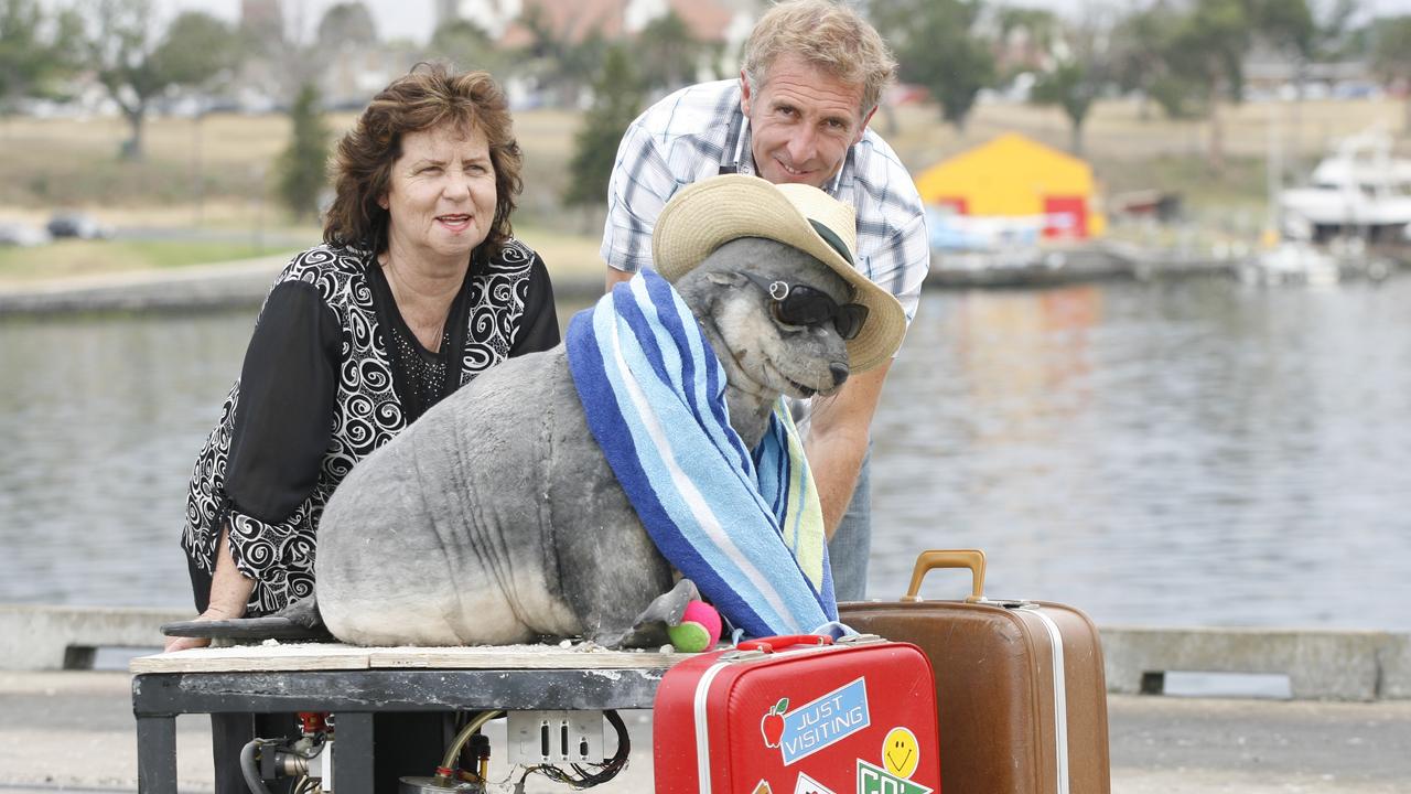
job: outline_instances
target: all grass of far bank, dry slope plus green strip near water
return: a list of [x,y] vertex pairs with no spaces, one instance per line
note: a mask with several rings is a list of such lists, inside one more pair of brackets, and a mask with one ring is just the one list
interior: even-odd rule
[[[1209,124],[1173,122],[1136,102],[1098,103],[1085,126],[1084,153],[1106,194],[1157,188],[1181,194],[1189,215],[1212,227],[1259,225],[1266,203],[1264,154],[1270,129],[1291,174],[1304,174],[1328,144],[1380,124],[1400,130],[1397,100],[1246,103],[1225,107],[1226,164],[1206,161]],[[341,134],[353,114],[334,114]],[[600,273],[601,220],[560,206],[567,164],[581,114],[532,110],[515,114],[523,150],[525,192],[516,232],[564,274]],[[1019,131],[1058,148],[1070,147],[1067,119],[1055,109],[981,105],[964,131],[943,124],[934,106],[883,109],[873,126],[919,172],[1003,131]],[[192,227],[248,232],[288,242],[317,240],[317,229],[295,227],[272,198],[272,162],[285,147],[282,116],[212,114],[152,119],[147,158],[119,161],[127,136],[117,119],[0,120],[0,219],[42,220],[58,206],[87,209],[116,226]],[[1403,141],[1405,143],[1405,141]],[[0,249],[0,278],[24,280],[95,271],[172,267],[271,253],[233,243],[56,243],[44,249]]]

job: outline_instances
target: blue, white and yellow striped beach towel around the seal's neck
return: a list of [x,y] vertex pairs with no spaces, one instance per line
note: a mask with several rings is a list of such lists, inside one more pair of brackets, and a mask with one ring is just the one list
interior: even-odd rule
[[588,428],[662,555],[748,636],[830,632],[823,511],[783,400],[746,449],[720,360],[650,270],[579,312],[566,343]]

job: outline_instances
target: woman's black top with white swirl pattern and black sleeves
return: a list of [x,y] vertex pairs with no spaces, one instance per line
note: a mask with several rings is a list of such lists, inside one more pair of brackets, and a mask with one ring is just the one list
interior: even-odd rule
[[358,461],[488,367],[559,343],[543,260],[515,240],[494,257],[477,250],[443,332],[440,389],[395,342],[404,333],[370,251],[309,249],[265,298],[196,458],[182,531],[193,569],[210,575],[229,520],[231,557],[255,581],[248,616],[313,592],[319,516]]

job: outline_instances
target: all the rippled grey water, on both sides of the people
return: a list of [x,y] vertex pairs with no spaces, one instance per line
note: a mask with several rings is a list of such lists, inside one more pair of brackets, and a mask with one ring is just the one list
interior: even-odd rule
[[[872,595],[979,547],[988,593],[1102,624],[1411,630],[1408,305],[1411,275],[928,292],[875,422]],[[251,325],[0,322],[0,602],[189,605],[186,478]]]

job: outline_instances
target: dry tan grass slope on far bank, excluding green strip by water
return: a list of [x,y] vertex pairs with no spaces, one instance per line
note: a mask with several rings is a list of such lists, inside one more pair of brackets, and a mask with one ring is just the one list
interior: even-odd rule
[[[1374,124],[1401,130],[1403,107],[1390,99],[1263,102],[1223,107],[1222,117],[1229,158],[1222,171],[1205,161],[1208,123],[1163,119],[1154,107],[1144,110],[1134,100],[1096,103],[1085,126],[1084,151],[1109,191],[1180,189],[1195,205],[1252,199],[1263,196],[1263,158],[1276,123],[1285,157],[1307,167],[1338,137]],[[329,127],[341,134],[353,120],[349,113],[333,114]],[[580,122],[581,114],[569,110],[515,114],[525,154],[525,219],[559,220],[559,196],[567,186]],[[1057,109],[1029,105],[981,105],[964,131],[943,124],[934,106],[917,105],[883,109],[873,126],[913,171],[1002,131],[1070,147],[1067,119]],[[229,220],[222,208],[246,216],[264,212],[270,222],[278,222],[271,188],[272,162],[289,136],[284,116],[152,119],[143,162],[116,158],[126,136],[119,119],[0,122],[0,171],[7,177],[0,184],[0,208],[72,205],[111,215],[181,209],[195,219],[199,199],[217,209],[210,222]]]

